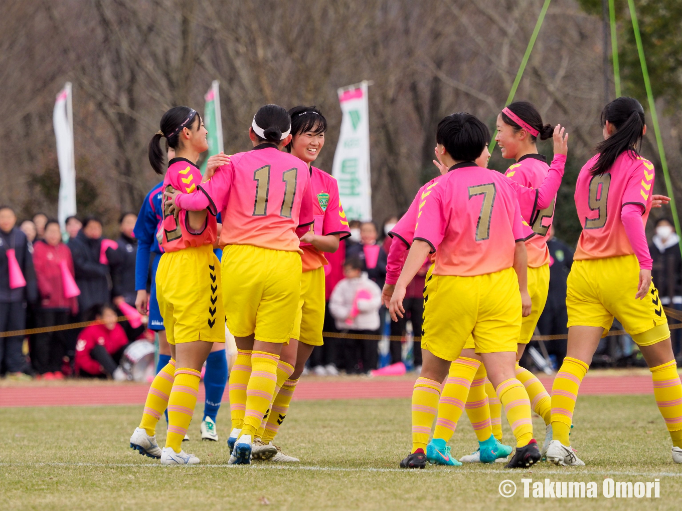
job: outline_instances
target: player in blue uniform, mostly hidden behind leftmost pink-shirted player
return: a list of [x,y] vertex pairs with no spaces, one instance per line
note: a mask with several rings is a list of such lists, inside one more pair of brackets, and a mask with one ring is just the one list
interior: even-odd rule
[[[168,161],[175,158],[175,149],[167,147],[167,157]],[[212,176],[213,171],[218,166],[224,165],[228,161],[230,160],[224,153],[209,157],[204,179]],[[149,329],[154,330],[158,334],[159,360],[156,365],[156,373],[166,367],[170,360],[170,345],[166,341],[166,330],[164,330],[163,318],[159,312],[158,300],[156,300],[156,270],[163,253],[161,245],[159,245],[159,241],[156,238],[156,233],[163,219],[163,189],[164,183],[162,181],[147,193],[142,207],[140,207],[140,214],[137,217],[134,230],[135,237],[138,240],[137,257],[135,260],[135,287],[137,289],[135,305],[140,314],[146,315],[149,313]],[[151,262],[151,292],[147,294],[147,277],[149,276],[149,258],[151,253],[153,253],[153,260]],[[225,348],[222,343],[214,343],[213,348],[211,348],[211,354],[209,354],[206,360],[206,371],[204,373],[204,388],[206,391],[204,420],[201,421],[199,428],[201,439],[203,440],[218,440],[216,418],[226,382],[227,359]],[[188,435],[185,435],[185,440],[189,440]],[[131,444],[134,445],[132,440]],[[140,454],[147,454],[150,457],[158,458],[161,456],[160,448],[153,453],[146,452],[140,446],[135,446],[134,448],[140,450]]]

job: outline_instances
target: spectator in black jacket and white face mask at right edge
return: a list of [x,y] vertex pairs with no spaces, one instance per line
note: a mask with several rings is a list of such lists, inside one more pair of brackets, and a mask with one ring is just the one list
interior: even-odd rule
[[[674,223],[668,218],[656,221],[655,234],[651,238],[649,253],[653,259],[651,278],[661,303],[672,309],[682,310],[682,255],[680,238]],[[672,350],[682,359],[682,329],[671,330]]]

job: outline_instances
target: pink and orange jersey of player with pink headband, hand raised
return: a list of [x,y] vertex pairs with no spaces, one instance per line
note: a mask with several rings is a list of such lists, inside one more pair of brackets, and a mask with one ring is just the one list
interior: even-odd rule
[[[552,165],[559,163],[563,166],[565,161],[565,155],[555,155]],[[547,177],[548,172],[549,166],[546,163],[546,158],[543,155],[530,154],[520,157],[516,164],[509,166],[505,176],[523,187],[537,190]],[[517,198],[523,219],[535,232],[535,236],[526,242],[528,266],[539,268],[550,262],[547,241],[550,237],[550,226],[554,219],[556,197],[552,199],[549,206],[542,210],[537,210],[537,198],[533,198],[532,194],[517,193]]]

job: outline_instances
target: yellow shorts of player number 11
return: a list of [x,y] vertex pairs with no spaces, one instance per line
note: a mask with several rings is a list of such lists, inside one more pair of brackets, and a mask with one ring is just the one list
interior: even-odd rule
[[226,245],[222,289],[235,337],[288,343],[301,296],[301,255],[254,245]]

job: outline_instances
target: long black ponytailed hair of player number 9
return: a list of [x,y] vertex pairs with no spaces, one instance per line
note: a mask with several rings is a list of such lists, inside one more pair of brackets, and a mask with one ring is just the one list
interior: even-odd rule
[[621,96],[606,105],[602,110],[602,127],[606,121],[613,125],[616,132],[597,146],[599,157],[590,169],[593,176],[607,172],[625,151],[638,157],[638,144],[642,143],[644,136],[644,108],[634,97]]

